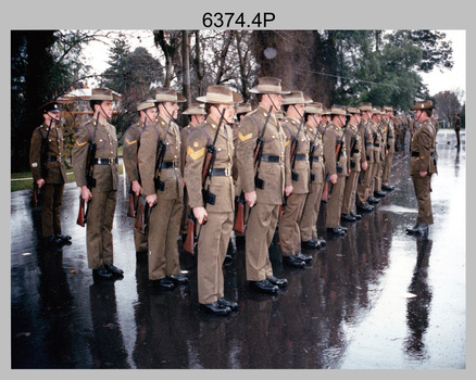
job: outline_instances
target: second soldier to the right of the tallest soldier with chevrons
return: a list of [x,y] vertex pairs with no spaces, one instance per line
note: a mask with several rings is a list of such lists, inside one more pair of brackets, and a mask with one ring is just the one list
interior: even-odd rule
[[321,131],[323,112],[323,105],[317,102],[308,103],[304,107],[305,132],[310,141],[310,185],[299,228],[301,245],[312,249],[321,249],[326,245],[326,241],[317,237],[317,217],[324,188],[323,136]]

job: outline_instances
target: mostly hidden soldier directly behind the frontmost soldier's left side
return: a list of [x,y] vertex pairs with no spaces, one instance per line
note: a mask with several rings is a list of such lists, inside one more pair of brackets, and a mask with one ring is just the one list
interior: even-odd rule
[[[190,132],[197,127],[200,123],[203,123],[205,119],[205,109],[203,104],[191,103],[190,106],[181,113],[183,115],[187,115],[188,125],[180,129],[180,163],[181,168],[185,167],[185,163],[187,160],[187,139]],[[181,173],[184,175],[184,172]],[[187,194],[187,185],[184,188],[184,212],[181,214],[181,227],[180,235],[184,237],[187,233],[187,224],[188,224],[188,215],[190,214],[190,206],[188,205],[188,194]]]

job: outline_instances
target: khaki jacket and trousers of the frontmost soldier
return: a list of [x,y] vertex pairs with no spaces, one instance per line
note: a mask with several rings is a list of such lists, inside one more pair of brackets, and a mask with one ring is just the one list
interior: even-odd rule
[[235,207],[235,185],[231,177],[234,144],[231,128],[222,124],[215,141],[215,162],[212,176],[204,188],[215,195],[214,204],[204,204],[202,197],[202,170],[206,145],[212,144],[217,123],[210,116],[198,125],[187,140],[185,180],[189,205],[205,207],[208,221],[198,226],[197,279],[200,304],[210,304],[224,296],[223,262],[228,249]]

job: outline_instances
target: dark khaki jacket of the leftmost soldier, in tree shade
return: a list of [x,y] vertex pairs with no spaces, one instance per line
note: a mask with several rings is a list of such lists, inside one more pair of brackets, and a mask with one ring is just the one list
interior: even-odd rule
[[[58,128],[51,128],[48,134],[49,126],[43,124],[36,128],[32,135],[29,144],[29,166],[35,182],[38,179],[45,179],[46,183],[65,183],[66,169],[63,163],[63,131]],[[50,156],[57,161],[41,161],[41,150],[48,135],[48,147],[45,151],[45,157]],[[48,160],[48,159],[47,159]]]

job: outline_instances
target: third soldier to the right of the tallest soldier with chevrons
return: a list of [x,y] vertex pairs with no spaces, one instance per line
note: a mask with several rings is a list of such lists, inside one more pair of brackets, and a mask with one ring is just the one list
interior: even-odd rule
[[[326,229],[327,235],[342,236],[347,227],[340,226],[342,211],[343,189],[348,173],[347,141],[342,127],[346,126],[347,111],[343,105],[330,107],[331,122],[324,134],[324,163],[326,176],[329,178],[329,195],[327,201]],[[338,145],[340,144],[340,148]],[[338,150],[337,156],[336,151]]]

